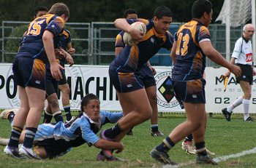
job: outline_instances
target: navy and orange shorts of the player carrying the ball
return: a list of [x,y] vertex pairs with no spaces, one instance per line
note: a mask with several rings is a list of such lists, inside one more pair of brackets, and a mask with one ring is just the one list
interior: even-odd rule
[[144,88],[138,73],[121,73],[110,69],[108,73],[110,81],[118,92],[133,92]]

